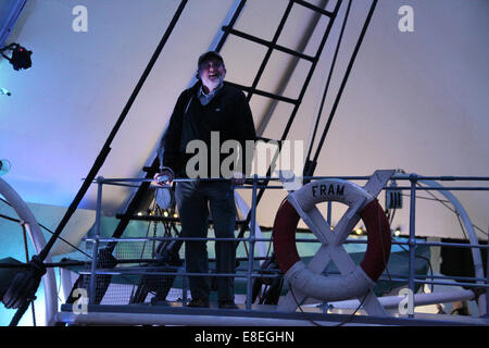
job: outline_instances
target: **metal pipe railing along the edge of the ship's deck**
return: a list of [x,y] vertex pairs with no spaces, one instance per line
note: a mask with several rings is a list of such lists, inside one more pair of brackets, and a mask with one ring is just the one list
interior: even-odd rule
[[[316,179],[324,179],[324,178],[342,178],[342,179],[352,179],[352,181],[367,181],[369,178],[369,176],[310,176],[310,177],[304,177],[308,181],[316,181]],[[489,182],[489,177],[486,176],[418,176],[416,174],[394,174],[391,176],[390,179],[396,179],[396,181],[409,181],[411,183],[410,186],[405,186],[405,187],[396,187],[397,190],[412,190],[412,191],[416,191],[416,190],[426,190],[426,189],[437,189],[437,190],[452,190],[452,189],[457,189],[457,190],[473,190],[473,189],[479,189],[479,190],[489,190],[489,187],[486,186],[480,186],[480,187],[440,187],[437,185],[437,187],[418,187],[415,184],[417,182],[429,182],[429,181],[450,181],[450,182],[456,182],[456,181],[478,181],[478,182]],[[181,183],[181,182],[193,182],[193,181],[205,181],[205,179],[191,179],[191,178],[176,178],[175,182],[176,183]],[[209,181],[209,179],[208,179]],[[212,178],[211,181],[225,181],[224,178]],[[256,219],[256,210],[255,210],[255,203],[256,203],[256,192],[258,189],[260,187],[260,183],[263,181],[276,181],[278,182],[278,178],[275,177],[259,177],[258,175],[254,175],[253,177],[248,179],[248,184],[250,185],[242,185],[242,186],[238,186],[237,188],[244,188],[244,189],[252,189],[252,212],[251,212],[251,216],[252,216],[252,222],[255,223],[255,219]],[[152,182],[152,179],[148,179],[148,178],[103,178],[103,177],[99,177],[97,179],[97,183],[99,185],[99,192],[101,194],[102,190],[102,186],[103,185],[117,185],[118,183],[138,183],[138,182]],[[251,185],[252,184],[252,185]],[[159,187],[159,186],[155,186]],[[271,188],[269,186],[267,186],[266,188]],[[281,186],[277,185],[276,188],[283,188]],[[384,187],[384,189],[388,190],[391,189],[391,187],[386,186]],[[415,195],[412,195],[412,202],[416,200]],[[101,207],[101,195],[98,196],[98,207],[100,209]],[[98,211],[98,219],[100,219],[100,211]],[[472,248],[473,250],[479,250],[478,252],[480,252],[480,249],[485,249],[488,250],[489,246],[487,245],[479,245],[477,244],[477,239],[475,240],[471,240],[469,244],[460,244],[460,243],[441,243],[441,241],[427,241],[427,240],[419,240],[415,237],[414,234],[414,219],[415,219],[415,210],[411,210],[410,212],[410,220],[411,220],[411,226],[410,226],[410,237],[408,238],[406,241],[401,241],[401,240],[393,240],[392,244],[393,245],[406,245],[409,246],[409,252],[410,252],[410,271],[409,271],[409,276],[408,277],[402,277],[399,276],[397,274],[391,274],[389,275],[388,279],[389,281],[402,281],[402,282],[409,282],[409,286],[411,289],[414,290],[414,286],[415,284],[441,284],[441,285],[454,285],[454,286],[464,286],[464,287],[468,287],[468,288],[479,288],[479,289],[487,289],[488,286],[488,279],[484,278],[484,270],[482,270],[482,276],[480,276],[480,272],[477,273],[477,276],[475,277],[452,277],[452,276],[442,276],[442,275],[437,275],[437,276],[426,276],[426,277],[419,277],[416,276],[414,274],[414,258],[415,258],[415,247],[418,245],[424,245],[424,246],[436,246],[436,247],[441,247],[441,246],[452,246],[452,247],[461,247],[461,248]],[[175,240],[175,239],[180,239],[180,240],[208,240],[208,241],[218,241],[218,240],[235,240],[235,241],[243,241],[243,243],[248,243],[250,244],[250,250],[253,250],[253,244],[259,243],[259,241],[271,241],[271,238],[255,238],[255,236],[253,235],[252,229],[250,229],[250,236],[248,238],[213,238],[213,237],[205,237],[205,238],[197,238],[197,237],[123,237],[123,238],[102,238],[100,237],[100,225],[98,224],[96,226],[96,234],[93,238],[85,238],[86,241],[95,241],[95,245],[99,245],[100,243],[113,243],[113,241],[147,241],[147,240]],[[298,239],[298,241],[301,243],[317,243],[317,240],[314,239]],[[366,243],[366,240],[347,240],[347,244],[362,244],[362,243]],[[248,279],[248,288],[247,288],[247,310],[251,310],[251,287],[252,287],[252,281],[254,278],[258,277],[268,277],[268,278],[276,278],[279,275],[278,274],[264,274],[263,270],[261,271],[260,269],[255,269],[253,266],[253,260],[254,260],[254,256],[253,252],[249,252],[248,256],[248,269],[247,270],[236,270],[236,273],[234,274],[216,274],[216,273],[210,273],[210,274],[199,274],[199,273],[188,273],[188,272],[180,272],[178,271],[178,273],[175,272],[147,272],[145,273],[143,270],[141,269],[127,269],[125,270],[123,269],[110,269],[110,270],[103,270],[103,269],[97,269],[97,251],[98,249],[93,246],[93,258],[92,258],[92,268],[91,270],[86,270],[83,271],[84,274],[98,274],[98,275],[102,275],[102,274],[111,274],[111,275],[115,275],[115,274],[150,274],[150,275],[175,275],[177,274],[178,276],[186,276],[186,275],[191,275],[191,276],[210,276],[210,277],[218,277],[218,276],[235,276],[235,277],[241,277],[241,278],[247,278]],[[479,259],[480,260],[480,259]],[[479,264],[481,264],[479,262]],[[393,277],[392,277],[393,276]],[[92,284],[91,284],[91,294],[95,293],[95,278],[96,276],[92,276]],[[385,276],[380,277],[380,279],[386,279]],[[467,283],[467,282],[476,282],[476,283]],[[484,295],[482,295],[484,296]],[[479,302],[480,302],[480,298],[482,296],[479,296]],[[92,301],[90,301],[90,303],[93,303]],[[486,304],[487,306],[487,304]],[[480,313],[485,313],[487,312],[487,308],[482,308],[481,306],[479,306],[479,311]],[[413,316],[413,315],[411,315]]]

